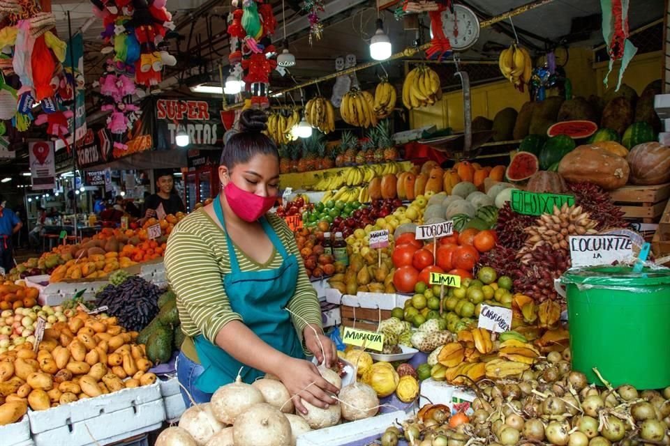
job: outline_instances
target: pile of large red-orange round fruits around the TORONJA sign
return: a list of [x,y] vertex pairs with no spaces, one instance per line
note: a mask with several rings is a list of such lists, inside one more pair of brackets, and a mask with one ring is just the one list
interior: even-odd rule
[[440,238],[433,254],[432,240],[417,240],[413,233],[403,233],[396,238],[392,255],[396,267],[393,284],[399,293],[414,293],[417,282],[428,284],[431,272],[472,278],[479,254],[494,246],[496,231],[466,229]]

